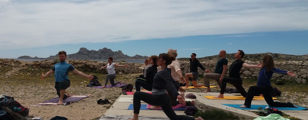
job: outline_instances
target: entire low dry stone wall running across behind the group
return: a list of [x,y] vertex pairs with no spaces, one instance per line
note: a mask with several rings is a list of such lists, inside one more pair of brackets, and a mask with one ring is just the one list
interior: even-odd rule
[[[98,61],[91,61],[91,60],[66,60],[67,63],[72,64],[76,69],[80,71],[87,71],[87,72],[102,72],[104,74],[107,74],[106,68],[103,70],[99,70],[101,66],[105,66],[107,62],[98,62]],[[214,72],[215,66],[216,66],[215,60],[209,60],[209,61],[202,61],[200,62],[206,69],[209,69],[211,72]],[[228,61],[228,67],[226,75],[229,73],[230,65],[232,64],[232,60]],[[261,61],[250,61],[246,60],[245,63],[247,64],[258,64]],[[23,63],[23,64],[22,64]],[[13,60],[13,59],[1,59],[0,60],[0,67],[1,68],[21,68],[21,67],[31,67],[34,69],[51,69],[55,62],[53,60],[43,60],[43,61],[22,61],[19,60]],[[129,67],[116,67],[115,72],[118,75],[121,74],[131,74],[131,73],[142,73],[142,70],[144,68],[144,64],[139,63],[126,63],[126,62],[116,62],[116,64],[125,65],[128,64]],[[188,61],[180,61],[181,64],[181,70],[183,74],[189,72],[189,62]],[[282,79],[297,83],[306,83],[307,82],[307,76],[308,76],[308,61],[275,61],[275,67],[287,70],[287,71],[293,71],[296,76],[291,77],[289,75],[281,75],[281,74],[273,74],[274,80]],[[8,72],[6,69],[1,69],[2,73]],[[205,72],[198,68],[198,72],[203,75]],[[242,78],[256,78],[259,75],[259,69],[258,68],[242,68],[241,69],[241,77]]]

